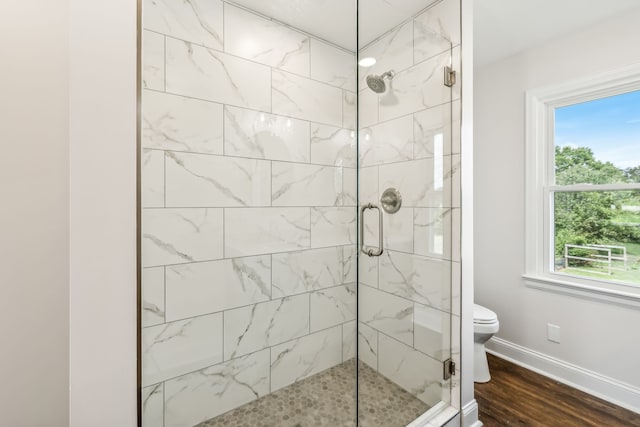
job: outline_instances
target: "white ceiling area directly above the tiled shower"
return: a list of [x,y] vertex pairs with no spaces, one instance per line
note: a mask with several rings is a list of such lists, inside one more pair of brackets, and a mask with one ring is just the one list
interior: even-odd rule
[[[435,0],[360,0],[359,38],[364,47]],[[233,0],[248,9],[356,51],[356,0]]]

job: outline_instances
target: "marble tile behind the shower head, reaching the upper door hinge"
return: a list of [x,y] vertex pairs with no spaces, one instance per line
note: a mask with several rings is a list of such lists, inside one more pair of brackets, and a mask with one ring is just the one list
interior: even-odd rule
[[443,84],[444,53],[397,73],[389,89],[380,96],[380,120],[391,120],[451,101],[452,89]]

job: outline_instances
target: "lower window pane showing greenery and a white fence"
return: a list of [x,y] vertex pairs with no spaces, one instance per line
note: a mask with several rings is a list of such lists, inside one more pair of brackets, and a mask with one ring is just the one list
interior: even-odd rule
[[554,193],[554,271],[640,285],[640,191]]

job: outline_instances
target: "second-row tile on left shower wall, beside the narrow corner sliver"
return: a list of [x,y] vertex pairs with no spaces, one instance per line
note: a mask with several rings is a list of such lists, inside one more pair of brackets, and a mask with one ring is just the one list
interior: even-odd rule
[[342,91],[284,71],[272,72],[273,113],[342,126]]

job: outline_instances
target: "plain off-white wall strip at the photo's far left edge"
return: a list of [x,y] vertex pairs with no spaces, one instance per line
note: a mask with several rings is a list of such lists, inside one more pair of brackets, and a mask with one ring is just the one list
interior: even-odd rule
[[0,2],[0,424],[68,423],[65,1]]

